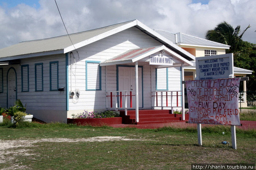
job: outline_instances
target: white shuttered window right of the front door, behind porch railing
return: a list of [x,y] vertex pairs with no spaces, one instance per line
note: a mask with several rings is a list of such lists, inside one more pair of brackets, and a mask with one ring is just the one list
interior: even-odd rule
[[156,90],[168,90],[168,68],[155,69]]

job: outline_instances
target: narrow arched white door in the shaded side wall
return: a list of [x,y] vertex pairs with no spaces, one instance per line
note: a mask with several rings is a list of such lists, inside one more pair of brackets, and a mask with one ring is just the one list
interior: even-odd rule
[[8,72],[8,107],[16,101],[16,74],[13,69]]

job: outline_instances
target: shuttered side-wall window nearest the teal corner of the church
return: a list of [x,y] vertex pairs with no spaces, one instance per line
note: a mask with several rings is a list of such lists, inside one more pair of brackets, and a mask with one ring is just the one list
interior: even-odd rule
[[59,62],[50,62],[50,90],[59,88]]

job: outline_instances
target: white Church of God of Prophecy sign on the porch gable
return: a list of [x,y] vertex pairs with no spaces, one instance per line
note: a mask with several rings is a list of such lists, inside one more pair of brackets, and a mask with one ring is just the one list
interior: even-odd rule
[[166,55],[150,55],[149,56],[149,64],[150,65],[173,65],[173,56]]

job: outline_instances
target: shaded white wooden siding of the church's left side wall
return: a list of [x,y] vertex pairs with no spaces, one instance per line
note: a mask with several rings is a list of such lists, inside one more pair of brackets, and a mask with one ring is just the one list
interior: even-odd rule
[[[53,110],[53,112],[47,112],[54,114],[54,110],[66,111],[66,93],[59,91],[50,91],[50,76],[49,65],[50,62],[59,61],[59,86],[65,87],[65,55],[57,56],[44,56],[41,58],[31,58],[21,60],[20,65],[29,64],[29,92],[22,92],[21,89],[21,66],[11,65],[3,66],[4,75],[4,92],[0,93],[0,106],[6,107],[7,105],[7,71],[10,67],[15,68],[17,73],[17,98],[22,101],[23,104],[27,104],[27,112],[37,117],[37,112],[30,112],[30,110]],[[35,63],[43,63],[43,76],[44,76],[44,91],[35,91]],[[65,89],[66,91],[66,89]],[[38,113],[39,114],[39,113]],[[50,115],[48,115],[50,116]]]

